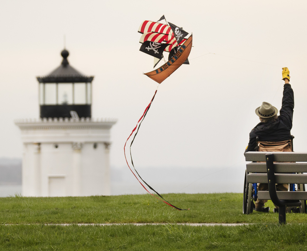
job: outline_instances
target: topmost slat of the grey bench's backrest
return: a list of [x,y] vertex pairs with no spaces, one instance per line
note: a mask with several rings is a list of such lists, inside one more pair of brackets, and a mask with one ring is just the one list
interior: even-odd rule
[[274,154],[274,161],[307,162],[306,152],[246,152],[246,161],[266,161],[266,153]]

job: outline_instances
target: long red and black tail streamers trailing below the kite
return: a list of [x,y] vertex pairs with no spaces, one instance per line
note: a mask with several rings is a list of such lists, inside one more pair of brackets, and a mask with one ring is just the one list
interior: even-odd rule
[[[138,180],[138,182],[140,182],[140,184],[142,185],[142,187],[144,187],[144,189],[145,189],[148,193],[150,193],[150,191],[148,191],[148,190],[146,189],[146,187],[142,184],[142,182],[138,179],[138,177],[140,177],[140,179],[141,179],[151,190],[153,190],[155,193],[157,193],[157,195],[158,195],[159,197],[161,197],[161,199],[158,198],[158,197],[156,197],[154,194],[150,193],[152,196],[156,197],[156,198],[159,199],[160,201],[163,201],[163,202],[166,203],[167,205],[170,205],[170,206],[172,206],[172,207],[174,207],[174,208],[176,208],[176,209],[178,209],[178,210],[188,210],[188,209],[181,209],[181,208],[178,208],[178,207],[172,205],[171,203],[169,203],[167,200],[165,200],[156,190],[154,190],[150,185],[148,185],[148,184],[146,183],[146,181],[144,181],[144,180],[142,179],[142,177],[138,174],[138,171],[135,169],[134,164],[133,164],[132,155],[131,155],[131,146],[132,146],[132,143],[133,143],[133,141],[134,141],[134,139],[135,139],[135,136],[138,134],[138,129],[140,128],[140,125],[141,125],[141,123],[143,122],[143,120],[144,120],[144,118],[145,118],[145,116],[146,116],[146,114],[147,114],[147,112],[148,112],[148,110],[149,110],[149,108],[150,108],[150,106],[151,106],[151,103],[153,102],[154,97],[156,96],[157,90],[158,90],[158,87],[157,87],[157,89],[156,89],[156,91],[155,91],[155,93],[154,93],[154,95],[153,95],[153,98],[151,99],[149,105],[146,107],[146,109],[145,109],[145,111],[144,111],[142,117],[138,120],[137,125],[134,127],[134,129],[132,130],[132,132],[130,133],[129,137],[128,137],[127,140],[126,140],[126,143],[125,143],[125,146],[124,146],[124,153],[125,153],[126,163],[127,163],[128,167],[129,167],[130,171],[133,173],[133,175],[134,175],[134,176],[136,177],[136,179]],[[130,144],[130,157],[131,157],[132,166],[133,166],[133,168],[134,168],[134,171],[138,174],[138,177],[135,175],[135,173],[132,171],[132,169],[130,168],[130,166],[129,166],[129,164],[128,164],[128,161],[127,161],[127,158],[126,158],[126,150],[125,150],[127,141],[129,140],[129,138],[131,137],[131,135],[134,133],[135,130],[136,130],[136,133],[134,134],[133,140],[131,141],[131,144]]]

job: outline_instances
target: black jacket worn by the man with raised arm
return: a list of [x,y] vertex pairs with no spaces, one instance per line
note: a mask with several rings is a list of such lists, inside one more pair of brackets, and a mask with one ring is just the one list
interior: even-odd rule
[[[255,151],[257,147],[256,137],[259,141],[278,142],[291,139],[291,128],[294,108],[294,95],[290,84],[284,85],[282,97],[282,108],[278,119],[273,123],[262,123],[256,125],[250,132],[250,139],[245,152]],[[245,153],[244,152],[244,153]]]

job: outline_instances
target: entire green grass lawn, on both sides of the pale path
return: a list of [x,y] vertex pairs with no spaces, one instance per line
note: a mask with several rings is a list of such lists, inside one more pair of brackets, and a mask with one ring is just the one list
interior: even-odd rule
[[[306,214],[242,214],[242,194],[0,198],[0,250],[305,250]],[[272,205],[271,205],[272,206]],[[253,223],[244,226],[173,223]],[[45,223],[170,223],[60,226]],[[5,225],[12,224],[12,225]],[[18,224],[18,225],[15,225]],[[28,225],[29,224],[29,225]]]

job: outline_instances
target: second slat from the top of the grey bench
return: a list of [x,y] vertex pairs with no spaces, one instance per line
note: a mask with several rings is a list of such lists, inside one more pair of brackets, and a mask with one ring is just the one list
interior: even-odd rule
[[[275,173],[307,173],[307,163],[274,163]],[[248,173],[266,173],[266,163],[247,163]]]

